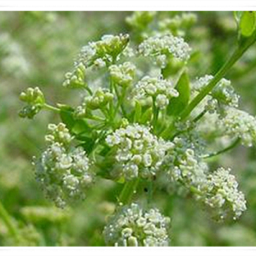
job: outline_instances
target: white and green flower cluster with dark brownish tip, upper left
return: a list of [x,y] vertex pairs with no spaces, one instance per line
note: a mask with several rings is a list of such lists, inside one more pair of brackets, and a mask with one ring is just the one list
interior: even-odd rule
[[75,61],[75,66],[83,63],[85,67],[95,65],[104,67],[118,59],[119,54],[129,43],[129,35],[119,36],[104,35],[100,41],[90,42],[85,45]]

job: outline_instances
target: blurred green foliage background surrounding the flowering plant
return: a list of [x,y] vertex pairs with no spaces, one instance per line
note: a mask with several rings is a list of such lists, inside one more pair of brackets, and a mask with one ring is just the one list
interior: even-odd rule
[[[236,44],[231,12],[198,12],[184,38],[196,49],[191,79],[215,73]],[[77,93],[64,89],[64,74],[89,41],[103,34],[132,33],[129,12],[0,12],[0,201],[19,227],[17,243],[0,218],[0,246],[102,246],[106,215],[113,212],[119,186],[97,181],[87,199],[59,210],[44,198],[34,179],[32,155],[44,149],[47,125],[60,119],[42,112],[20,119],[20,91],[39,86],[48,101],[78,103]],[[180,15],[163,12],[161,17]],[[241,95],[241,108],[256,113],[256,45],[228,74]],[[67,93],[68,92],[68,93]],[[230,166],[247,197],[247,212],[236,222],[216,223],[191,198],[163,189],[158,197],[172,218],[172,246],[256,246],[256,150],[236,148],[218,157]],[[103,188],[103,189],[102,189]],[[170,201],[171,207],[166,207]]]

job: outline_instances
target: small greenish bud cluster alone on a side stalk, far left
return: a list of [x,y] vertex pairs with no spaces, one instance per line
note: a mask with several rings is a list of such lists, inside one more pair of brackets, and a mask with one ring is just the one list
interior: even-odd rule
[[44,94],[38,87],[27,88],[20,93],[20,101],[27,104],[20,110],[20,117],[32,119],[44,106]]

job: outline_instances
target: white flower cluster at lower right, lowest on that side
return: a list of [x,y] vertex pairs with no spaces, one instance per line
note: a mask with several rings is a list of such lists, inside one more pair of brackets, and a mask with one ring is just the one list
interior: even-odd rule
[[230,169],[220,167],[208,175],[203,197],[206,196],[206,204],[214,208],[220,218],[225,218],[233,212],[236,219],[247,209],[245,197],[237,188],[236,177],[230,174]]

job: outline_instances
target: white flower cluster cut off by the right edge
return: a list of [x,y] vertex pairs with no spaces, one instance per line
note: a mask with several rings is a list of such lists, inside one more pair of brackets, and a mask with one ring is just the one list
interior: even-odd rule
[[227,135],[241,138],[241,143],[252,147],[256,143],[256,119],[237,108],[225,108],[224,118],[220,119]]

